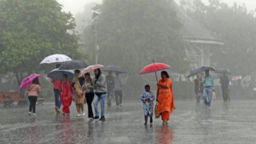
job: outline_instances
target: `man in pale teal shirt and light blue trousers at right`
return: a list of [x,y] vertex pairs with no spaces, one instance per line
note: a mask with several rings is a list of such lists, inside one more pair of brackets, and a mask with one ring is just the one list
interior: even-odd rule
[[203,98],[206,104],[206,107],[211,106],[212,101],[212,91],[215,91],[214,81],[209,71],[205,71],[206,76],[201,79],[201,83],[204,85]]

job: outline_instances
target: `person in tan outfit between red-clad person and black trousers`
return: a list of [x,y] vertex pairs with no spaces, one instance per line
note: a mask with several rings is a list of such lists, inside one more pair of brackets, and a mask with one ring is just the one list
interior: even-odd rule
[[84,84],[84,77],[80,77],[81,72],[80,70],[75,70],[75,78],[73,79],[73,88],[74,88],[74,102],[77,107],[77,112],[79,113],[77,117],[81,117],[81,110],[83,116],[85,115],[84,113],[84,100],[85,100],[85,94],[84,94],[84,89],[82,89],[82,85]]

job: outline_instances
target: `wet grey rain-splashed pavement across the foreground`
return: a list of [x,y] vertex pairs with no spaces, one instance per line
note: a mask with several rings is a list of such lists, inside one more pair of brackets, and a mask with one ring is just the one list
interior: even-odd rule
[[[37,106],[37,116],[28,116],[28,107],[0,106],[0,143],[195,143],[255,144],[255,101],[213,101],[203,103],[175,101],[169,124],[154,118],[145,126],[142,102],[127,102],[123,107],[106,109],[106,121],[89,121],[86,115],[56,115],[54,103]],[[99,105],[100,106],[100,105]]]

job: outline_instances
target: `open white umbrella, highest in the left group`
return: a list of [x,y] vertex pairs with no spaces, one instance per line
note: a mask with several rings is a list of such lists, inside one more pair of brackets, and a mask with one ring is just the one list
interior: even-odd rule
[[49,55],[44,60],[40,62],[40,64],[52,64],[52,63],[61,63],[65,61],[72,60],[67,55],[61,55],[61,54],[55,54],[55,55]]

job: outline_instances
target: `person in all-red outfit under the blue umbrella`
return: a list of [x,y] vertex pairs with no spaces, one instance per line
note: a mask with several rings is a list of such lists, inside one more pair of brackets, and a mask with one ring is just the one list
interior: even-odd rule
[[60,84],[60,91],[61,91],[61,101],[62,101],[62,111],[63,116],[69,116],[70,110],[69,107],[73,100],[73,86],[72,83],[68,81],[67,74],[63,75],[63,79]]

